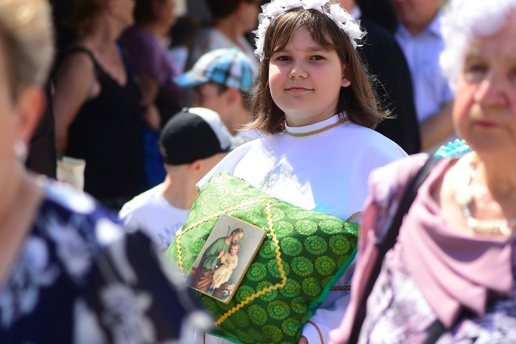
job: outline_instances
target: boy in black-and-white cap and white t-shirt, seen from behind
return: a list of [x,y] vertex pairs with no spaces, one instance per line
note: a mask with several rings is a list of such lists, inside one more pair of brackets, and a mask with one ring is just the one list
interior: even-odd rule
[[160,136],[164,182],[134,197],[118,214],[128,226],[138,226],[162,250],[186,222],[197,197],[195,184],[222,160],[233,137],[210,109],[184,108],[166,123]]

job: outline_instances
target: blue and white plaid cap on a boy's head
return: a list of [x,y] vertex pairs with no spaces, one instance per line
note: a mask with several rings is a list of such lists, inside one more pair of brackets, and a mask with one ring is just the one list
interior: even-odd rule
[[182,87],[218,83],[248,93],[252,87],[252,67],[249,57],[237,48],[215,49],[202,55],[188,72],[175,76]]

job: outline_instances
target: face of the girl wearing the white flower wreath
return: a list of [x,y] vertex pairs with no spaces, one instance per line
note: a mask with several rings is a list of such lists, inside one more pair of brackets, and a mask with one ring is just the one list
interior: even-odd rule
[[269,85],[287,125],[302,127],[334,116],[341,87],[350,81],[337,54],[321,47],[301,28],[270,56]]

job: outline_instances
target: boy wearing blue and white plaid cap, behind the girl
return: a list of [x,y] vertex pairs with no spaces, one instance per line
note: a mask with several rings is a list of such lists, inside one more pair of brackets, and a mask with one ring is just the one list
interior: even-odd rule
[[256,138],[255,133],[239,133],[249,122],[248,95],[253,74],[248,56],[237,48],[212,50],[202,55],[188,72],[176,76],[175,83],[195,92],[193,106],[216,111],[230,133]]

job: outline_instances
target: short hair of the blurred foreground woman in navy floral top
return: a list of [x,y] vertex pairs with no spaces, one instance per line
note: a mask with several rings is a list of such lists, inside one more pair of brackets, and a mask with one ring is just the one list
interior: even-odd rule
[[48,0],[1,0],[0,43],[12,96],[43,85],[54,58],[54,32]]

